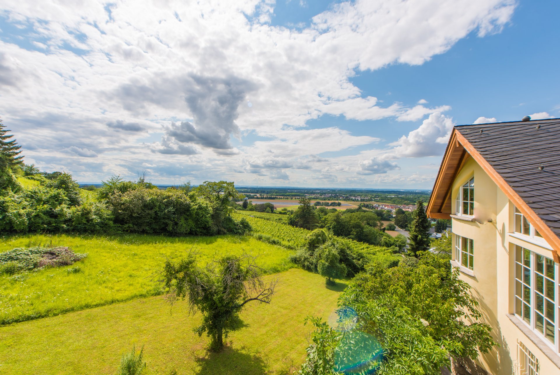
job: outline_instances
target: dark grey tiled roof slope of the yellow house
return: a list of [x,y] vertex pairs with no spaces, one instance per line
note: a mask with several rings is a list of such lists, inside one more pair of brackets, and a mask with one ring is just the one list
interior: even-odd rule
[[560,119],[455,129],[560,237]]

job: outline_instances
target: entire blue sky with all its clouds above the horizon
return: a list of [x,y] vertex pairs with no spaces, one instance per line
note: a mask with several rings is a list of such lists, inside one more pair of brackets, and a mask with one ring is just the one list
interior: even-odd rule
[[3,0],[0,118],[79,182],[431,189],[452,126],[560,117],[559,11]]

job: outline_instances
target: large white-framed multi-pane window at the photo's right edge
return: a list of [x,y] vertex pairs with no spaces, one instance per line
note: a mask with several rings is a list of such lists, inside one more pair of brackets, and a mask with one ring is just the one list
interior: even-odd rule
[[559,265],[554,260],[515,246],[515,315],[560,353]]

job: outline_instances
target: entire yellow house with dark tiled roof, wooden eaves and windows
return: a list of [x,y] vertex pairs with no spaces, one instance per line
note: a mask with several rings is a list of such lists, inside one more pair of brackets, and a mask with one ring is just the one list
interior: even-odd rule
[[455,126],[427,213],[500,344],[495,375],[560,374],[560,119]]

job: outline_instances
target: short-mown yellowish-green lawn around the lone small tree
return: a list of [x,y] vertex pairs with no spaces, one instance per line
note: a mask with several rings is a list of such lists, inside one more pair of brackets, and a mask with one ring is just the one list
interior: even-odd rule
[[272,302],[247,304],[244,327],[221,353],[208,353],[208,337],[194,334],[199,313],[189,317],[185,302],[170,310],[158,296],[2,326],[0,373],[114,374],[136,344],[144,345],[146,375],[291,374],[305,358],[304,318],[332,316],[346,283],[326,288],[323,277],[301,269],[269,277],[280,280]]

